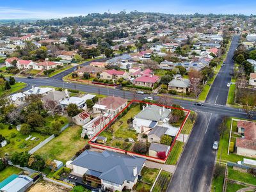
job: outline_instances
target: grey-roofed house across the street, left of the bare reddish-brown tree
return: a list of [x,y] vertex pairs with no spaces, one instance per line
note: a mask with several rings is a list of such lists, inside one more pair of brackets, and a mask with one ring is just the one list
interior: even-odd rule
[[190,81],[189,79],[184,79],[182,77],[172,79],[168,84],[168,90],[175,90],[179,93],[190,92]]

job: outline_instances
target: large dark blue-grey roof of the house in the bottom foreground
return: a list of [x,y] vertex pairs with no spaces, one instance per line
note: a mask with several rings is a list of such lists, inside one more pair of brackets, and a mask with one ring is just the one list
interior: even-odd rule
[[[98,172],[99,178],[122,185],[125,180],[134,181],[133,169],[137,168],[140,173],[146,159],[128,156],[104,150],[104,152],[93,152],[85,150],[71,164]],[[136,176],[137,176],[136,175]]]

